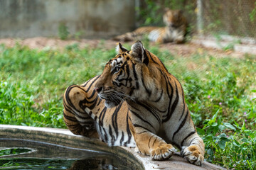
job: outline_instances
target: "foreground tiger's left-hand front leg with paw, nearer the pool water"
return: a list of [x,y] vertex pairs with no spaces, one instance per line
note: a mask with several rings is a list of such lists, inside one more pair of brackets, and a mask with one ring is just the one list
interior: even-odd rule
[[151,159],[154,160],[169,159],[176,152],[176,149],[144,127],[146,125],[143,125],[143,123],[137,125],[129,119],[129,128],[134,136],[139,153],[150,155]]

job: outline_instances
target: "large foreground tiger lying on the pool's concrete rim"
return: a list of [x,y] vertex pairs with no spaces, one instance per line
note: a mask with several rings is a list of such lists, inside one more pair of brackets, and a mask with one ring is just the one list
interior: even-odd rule
[[180,82],[142,42],[107,62],[103,73],[66,89],[64,120],[75,135],[100,137],[109,146],[136,147],[151,159],[169,159],[176,149],[201,165],[204,144],[184,100]]

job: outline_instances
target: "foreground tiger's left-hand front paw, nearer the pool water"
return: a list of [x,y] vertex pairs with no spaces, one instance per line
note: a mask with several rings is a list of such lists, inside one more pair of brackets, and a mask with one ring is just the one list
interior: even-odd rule
[[176,152],[176,149],[169,144],[161,145],[151,150],[151,159],[164,160],[169,159]]

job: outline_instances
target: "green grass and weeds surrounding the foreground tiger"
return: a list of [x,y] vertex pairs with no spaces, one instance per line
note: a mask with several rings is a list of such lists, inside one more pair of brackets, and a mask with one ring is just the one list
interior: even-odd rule
[[[256,57],[195,53],[181,57],[146,47],[183,84],[186,102],[206,144],[206,160],[228,169],[256,169]],[[127,47],[128,48],[128,47]],[[0,123],[65,128],[62,96],[102,72],[112,50],[31,50],[0,46]]]

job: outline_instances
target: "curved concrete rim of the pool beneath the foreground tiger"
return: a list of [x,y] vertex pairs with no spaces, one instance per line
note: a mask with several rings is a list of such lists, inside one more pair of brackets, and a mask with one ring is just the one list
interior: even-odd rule
[[[90,149],[99,152],[110,152],[120,157],[126,157],[131,164],[138,169],[160,170],[160,169],[223,169],[220,166],[203,162],[202,166],[189,164],[186,159],[174,155],[166,161],[152,161],[150,157],[134,152],[133,148],[127,147],[108,147],[105,143],[97,139],[91,139],[78,135],[73,135],[69,130],[54,128],[35,128],[16,125],[0,125],[0,137],[21,140],[35,140],[47,142],[54,145],[62,145],[78,149]],[[178,154],[178,153],[177,153]]]

